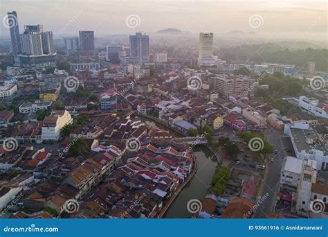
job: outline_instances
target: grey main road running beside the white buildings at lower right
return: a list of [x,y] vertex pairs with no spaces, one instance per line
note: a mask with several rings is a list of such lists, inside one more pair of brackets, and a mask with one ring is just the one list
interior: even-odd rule
[[[282,161],[287,156],[284,143],[282,141],[282,133],[268,127],[264,133],[264,137],[268,143],[274,146],[274,150],[277,150],[277,154],[269,155],[269,159],[266,164],[266,175],[264,176],[264,182],[262,184],[262,190],[259,192],[260,197],[264,197],[268,193],[267,198],[262,199],[262,203],[258,204],[255,211],[255,218],[268,218],[268,214],[275,209],[275,203],[277,200],[277,192],[279,191],[280,184],[280,170],[282,167]],[[271,159],[273,158],[273,161]],[[257,198],[257,202],[260,197]]]

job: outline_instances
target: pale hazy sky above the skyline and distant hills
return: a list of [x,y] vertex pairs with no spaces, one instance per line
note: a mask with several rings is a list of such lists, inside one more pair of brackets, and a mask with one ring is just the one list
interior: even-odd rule
[[[1,0],[1,19],[15,10],[19,30],[43,24],[55,37],[94,30],[95,36],[178,28],[190,32],[327,33],[326,0]],[[1,35],[9,35],[0,26]]]

